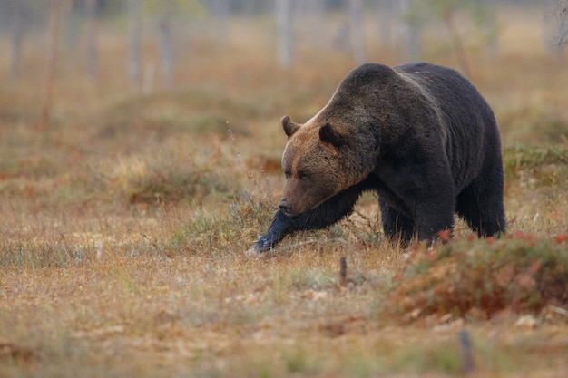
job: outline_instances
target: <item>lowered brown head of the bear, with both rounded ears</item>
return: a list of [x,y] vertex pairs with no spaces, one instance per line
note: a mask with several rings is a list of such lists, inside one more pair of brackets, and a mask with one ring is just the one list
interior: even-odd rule
[[[289,216],[316,208],[340,191],[348,189],[370,172],[361,171],[357,150],[340,124],[324,121],[321,112],[303,125],[282,118],[288,143],[282,155],[286,186],[279,208]],[[355,168],[354,168],[355,167]]]

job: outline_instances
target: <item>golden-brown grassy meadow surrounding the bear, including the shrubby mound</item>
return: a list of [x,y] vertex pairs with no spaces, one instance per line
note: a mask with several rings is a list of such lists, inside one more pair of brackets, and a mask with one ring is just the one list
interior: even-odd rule
[[[470,41],[470,80],[502,131],[508,233],[458,221],[432,248],[388,244],[368,195],[245,256],[283,188],[280,117],[318,111],[348,54],[300,44],[279,68],[269,24],[234,19],[143,94],[101,34],[95,82],[60,54],[44,128],[45,52],[18,80],[1,56],[0,377],[567,376],[568,66],[540,19],[506,15],[494,55]],[[399,62],[374,42],[369,61]],[[455,66],[444,42],[423,54]]]

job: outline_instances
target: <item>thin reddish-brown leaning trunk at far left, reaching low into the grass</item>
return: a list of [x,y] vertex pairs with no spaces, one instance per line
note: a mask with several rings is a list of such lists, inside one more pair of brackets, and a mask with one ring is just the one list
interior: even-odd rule
[[47,54],[46,74],[44,82],[44,103],[42,120],[38,129],[43,131],[49,124],[52,108],[52,92],[54,90],[55,63],[57,61],[57,40],[59,35],[59,14],[63,0],[53,0],[49,16],[49,50]]

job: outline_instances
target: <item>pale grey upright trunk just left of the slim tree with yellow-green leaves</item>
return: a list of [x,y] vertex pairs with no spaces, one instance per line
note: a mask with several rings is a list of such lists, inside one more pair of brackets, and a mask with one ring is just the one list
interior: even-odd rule
[[128,0],[128,77],[134,89],[141,85],[141,0]]

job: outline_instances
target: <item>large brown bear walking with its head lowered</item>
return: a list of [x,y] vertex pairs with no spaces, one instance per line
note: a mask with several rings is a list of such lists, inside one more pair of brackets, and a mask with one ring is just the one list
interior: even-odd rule
[[[363,64],[300,125],[282,118],[286,187],[261,253],[298,230],[348,216],[378,195],[385,236],[407,244],[451,232],[454,214],[479,237],[504,233],[504,175],[495,116],[471,82],[430,63]],[[446,234],[446,233],[445,233]]]

